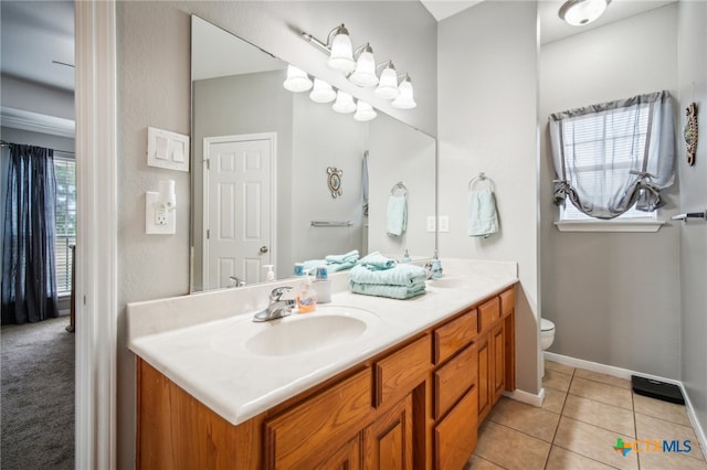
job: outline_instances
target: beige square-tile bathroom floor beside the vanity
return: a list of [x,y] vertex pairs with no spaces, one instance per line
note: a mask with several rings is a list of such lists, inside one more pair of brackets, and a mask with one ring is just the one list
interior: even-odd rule
[[[707,470],[684,406],[636,395],[626,380],[545,364],[542,407],[502,397],[478,429],[465,470]],[[630,450],[624,457],[613,449],[618,438],[689,440],[692,451]]]

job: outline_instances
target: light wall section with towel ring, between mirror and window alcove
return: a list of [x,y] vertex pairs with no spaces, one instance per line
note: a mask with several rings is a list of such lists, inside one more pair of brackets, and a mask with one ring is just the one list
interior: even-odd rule
[[[439,211],[450,232],[440,256],[519,265],[517,387],[537,394],[537,32],[536,4],[483,2],[439,24]],[[466,235],[468,182],[496,186],[500,233]]]

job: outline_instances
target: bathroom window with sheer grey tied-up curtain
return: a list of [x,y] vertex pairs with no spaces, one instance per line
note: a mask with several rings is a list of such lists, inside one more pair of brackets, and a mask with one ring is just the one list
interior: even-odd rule
[[667,92],[551,115],[560,221],[655,221],[674,179],[672,115]]

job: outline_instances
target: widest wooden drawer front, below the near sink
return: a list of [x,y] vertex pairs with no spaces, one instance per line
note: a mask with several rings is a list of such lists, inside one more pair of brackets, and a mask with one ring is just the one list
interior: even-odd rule
[[266,468],[313,468],[350,440],[372,410],[371,370],[366,368],[267,420]]

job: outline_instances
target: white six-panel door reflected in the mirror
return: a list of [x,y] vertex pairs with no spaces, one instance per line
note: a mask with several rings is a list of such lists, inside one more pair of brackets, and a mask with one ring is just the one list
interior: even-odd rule
[[275,259],[275,135],[204,138],[204,289],[264,279]]

